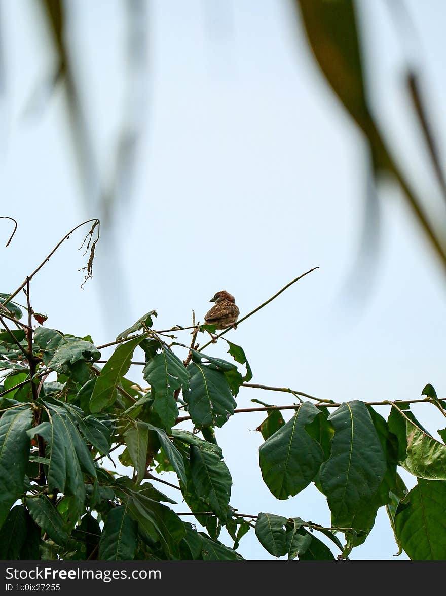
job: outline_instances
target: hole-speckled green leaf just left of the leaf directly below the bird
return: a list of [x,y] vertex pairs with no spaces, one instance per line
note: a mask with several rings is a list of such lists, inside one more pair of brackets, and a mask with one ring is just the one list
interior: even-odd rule
[[154,402],[151,409],[157,414],[163,429],[170,432],[178,415],[173,393],[188,381],[189,374],[183,362],[163,344],[161,352],[151,358],[142,371],[152,388]]

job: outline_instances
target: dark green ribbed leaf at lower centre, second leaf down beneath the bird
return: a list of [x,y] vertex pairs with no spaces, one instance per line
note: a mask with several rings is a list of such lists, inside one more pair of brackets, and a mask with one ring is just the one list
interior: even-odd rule
[[190,447],[192,481],[199,498],[222,520],[229,515],[232,478],[224,461],[211,451]]

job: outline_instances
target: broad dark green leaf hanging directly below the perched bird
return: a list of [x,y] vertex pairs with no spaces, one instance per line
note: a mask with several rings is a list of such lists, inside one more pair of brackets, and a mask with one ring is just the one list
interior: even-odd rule
[[197,427],[222,427],[237,405],[224,373],[194,362],[188,365],[188,372],[191,378],[187,389],[183,387],[183,397],[192,422]]

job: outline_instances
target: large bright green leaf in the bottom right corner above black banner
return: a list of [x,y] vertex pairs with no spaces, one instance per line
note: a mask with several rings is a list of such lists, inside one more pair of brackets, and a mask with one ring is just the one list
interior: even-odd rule
[[418,479],[395,514],[398,544],[413,561],[446,560],[446,482]]

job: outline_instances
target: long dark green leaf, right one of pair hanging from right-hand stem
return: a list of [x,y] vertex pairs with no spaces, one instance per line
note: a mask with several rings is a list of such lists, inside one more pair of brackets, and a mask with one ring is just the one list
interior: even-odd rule
[[333,526],[349,527],[373,499],[386,471],[386,458],[366,405],[344,403],[328,418],[335,429],[329,459],[320,468],[320,485]]

